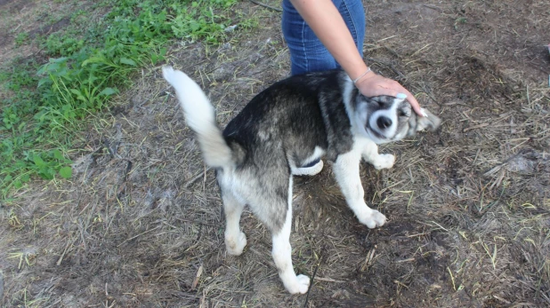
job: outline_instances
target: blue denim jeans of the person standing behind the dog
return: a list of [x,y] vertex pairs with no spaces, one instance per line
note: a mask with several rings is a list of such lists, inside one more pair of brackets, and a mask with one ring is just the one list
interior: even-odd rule
[[[365,10],[360,0],[332,0],[352,33],[357,50],[363,56]],[[340,67],[336,59],[315,36],[289,0],[283,0],[283,36],[292,62],[292,75]]]

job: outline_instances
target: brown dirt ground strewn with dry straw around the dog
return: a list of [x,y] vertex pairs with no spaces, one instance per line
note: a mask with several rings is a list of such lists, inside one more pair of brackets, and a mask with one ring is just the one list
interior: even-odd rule
[[[5,5],[24,1],[1,1]],[[273,6],[279,2],[271,1]],[[222,126],[289,72],[280,13],[212,50],[176,43],[169,63],[204,86]],[[550,2],[365,1],[366,59],[443,119],[361,167],[353,217],[329,164],[295,178],[293,260],[314,276],[290,296],[271,236],[245,212],[226,255],[222,203],[159,67],[85,131],[71,181],[36,182],[0,208],[4,307],[550,306]],[[17,13],[17,10],[14,11]],[[3,38],[4,39],[4,38]],[[10,48],[9,37],[4,48]]]

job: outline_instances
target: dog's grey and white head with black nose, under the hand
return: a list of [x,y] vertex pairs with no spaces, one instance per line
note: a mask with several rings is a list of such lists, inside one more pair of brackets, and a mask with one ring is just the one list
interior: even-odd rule
[[376,144],[397,141],[414,136],[418,130],[436,130],[441,119],[423,109],[425,115],[417,115],[405,99],[391,96],[366,98],[359,95],[356,102],[357,116],[368,137]]

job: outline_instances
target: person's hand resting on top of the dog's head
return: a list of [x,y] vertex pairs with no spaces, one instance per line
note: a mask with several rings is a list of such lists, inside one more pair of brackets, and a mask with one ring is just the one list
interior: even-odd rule
[[359,89],[361,94],[368,98],[380,95],[398,97],[400,93],[405,94],[415,113],[420,116],[425,116],[415,96],[400,85],[400,83],[392,79],[376,75],[376,73],[369,71],[366,75],[360,77],[360,80],[355,83],[355,86]]

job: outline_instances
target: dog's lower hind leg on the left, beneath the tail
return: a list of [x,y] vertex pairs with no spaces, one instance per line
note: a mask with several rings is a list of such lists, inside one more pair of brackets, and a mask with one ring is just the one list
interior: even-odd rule
[[231,192],[222,191],[225,212],[225,248],[232,256],[239,256],[247,246],[247,236],[240,231],[239,221],[245,204]]

